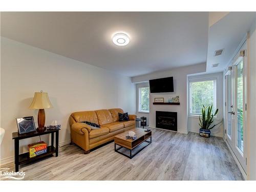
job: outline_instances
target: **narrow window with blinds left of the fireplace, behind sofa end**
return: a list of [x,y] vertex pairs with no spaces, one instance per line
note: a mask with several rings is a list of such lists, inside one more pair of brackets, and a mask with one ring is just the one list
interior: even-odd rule
[[150,112],[150,88],[139,88],[139,112]]

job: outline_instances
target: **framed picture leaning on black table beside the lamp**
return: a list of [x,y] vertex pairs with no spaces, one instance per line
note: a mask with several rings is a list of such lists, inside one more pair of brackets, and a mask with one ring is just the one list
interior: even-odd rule
[[35,122],[32,116],[16,118],[16,122],[18,126],[18,134],[35,132]]

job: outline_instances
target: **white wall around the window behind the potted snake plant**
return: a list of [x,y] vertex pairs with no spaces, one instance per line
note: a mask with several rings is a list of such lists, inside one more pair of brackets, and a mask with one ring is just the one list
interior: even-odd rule
[[[214,120],[214,123],[219,123],[223,120],[223,73],[211,73],[206,75],[197,75],[188,77],[190,79],[196,78],[216,78],[217,79],[217,108],[219,113],[217,118]],[[189,98],[189,95],[188,95]],[[189,113],[189,109],[188,109]],[[189,132],[199,132],[199,117],[188,116],[187,127]],[[211,135],[223,137],[223,123],[220,123],[211,130]]]

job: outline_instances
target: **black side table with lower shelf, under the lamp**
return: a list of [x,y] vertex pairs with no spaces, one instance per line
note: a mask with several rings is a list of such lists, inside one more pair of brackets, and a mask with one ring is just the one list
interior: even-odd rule
[[[54,133],[55,133],[55,147],[54,143]],[[36,157],[29,157],[29,152],[24,154],[19,154],[19,140],[27,139],[31,137],[36,137],[40,135],[51,134],[51,145],[47,146],[47,153],[38,155]],[[59,146],[59,130],[48,130],[45,132],[30,132],[25,134],[18,134],[18,132],[12,133],[12,139],[14,139],[14,162],[15,162],[15,172],[18,172],[18,166],[25,163],[32,163],[38,160],[42,160],[46,157],[53,156],[58,157],[58,146]]]

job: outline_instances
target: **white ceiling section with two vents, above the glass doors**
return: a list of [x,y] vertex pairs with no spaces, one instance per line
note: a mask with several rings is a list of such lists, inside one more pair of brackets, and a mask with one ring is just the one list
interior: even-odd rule
[[[230,12],[209,28],[207,73],[224,70],[255,18],[256,12]],[[222,55],[214,56],[219,49],[224,49]],[[219,66],[212,68],[215,63],[219,63]]]

